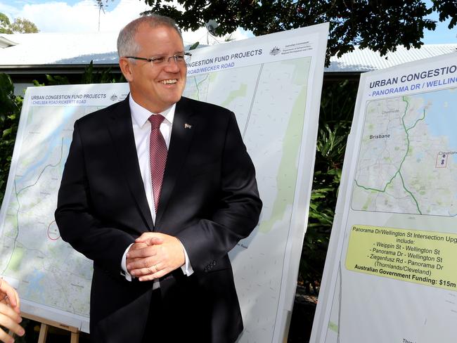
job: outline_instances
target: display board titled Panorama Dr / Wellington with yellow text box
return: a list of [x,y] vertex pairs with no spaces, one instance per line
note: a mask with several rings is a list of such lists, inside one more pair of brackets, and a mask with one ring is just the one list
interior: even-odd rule
[[311,342],[456,342],[456,62],[361,75]]

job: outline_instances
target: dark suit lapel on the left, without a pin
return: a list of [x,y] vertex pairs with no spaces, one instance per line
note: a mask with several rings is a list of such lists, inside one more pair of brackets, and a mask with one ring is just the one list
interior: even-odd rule
[[141,216],[143,216],[143,220],[148,225],[148,229],[152,231],[154,224],[150,215],[148,200],[144,193],[143,180],[141,179],[128,96],[112,112],[108,122],[108,130],[110,131],[112,143],[117,150],[120,167],[124,171],[131,196],[135,199]]

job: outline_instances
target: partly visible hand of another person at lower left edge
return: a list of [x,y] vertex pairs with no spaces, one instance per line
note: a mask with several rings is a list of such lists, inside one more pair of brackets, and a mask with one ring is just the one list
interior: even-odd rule
[[[19,325],[22,321],[20,318],[20,301],[18,292],[13,287],[8,285],[6,281],[0,278],[0,325],[16,335],[24,335],[24,329]],[[14,342],[13,337],[8,335],[0,328],[0,341],[1,342]]]

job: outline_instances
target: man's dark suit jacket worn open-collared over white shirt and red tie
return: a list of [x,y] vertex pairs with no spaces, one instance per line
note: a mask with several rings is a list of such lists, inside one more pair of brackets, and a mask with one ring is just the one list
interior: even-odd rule
[[255,228],[261,208],[233,112],[188,98],[176,104],[155,224],[128,98],[77,120],[56,222],[62,238],[94,260],[94,342],[141,342],[152,282],[125,280],[120,265],[127,247],[146,231],[179,238],[195,271],[187,277],[179,268],[160,280],[176,321],[198,318],[202,328],[209,325],[210,342],[233,342],[243,321],[227,253]]

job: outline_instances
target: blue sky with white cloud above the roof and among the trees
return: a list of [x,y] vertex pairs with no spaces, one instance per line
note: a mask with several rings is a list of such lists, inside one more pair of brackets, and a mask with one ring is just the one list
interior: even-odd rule
[[[430,0],[426,1],[430,4]],[[105,1],[104,1],[105,3]],[[143,0],[108,0],[100,14],[101,32],[119,32],[119,30],[139,13],[150,9]],[[8,17],[27,18],[37,25],[40,32],[97,32],[99,9],[95,0],[0,0],[0,12]],[[437,15],[430,18],[437,20]],[[447,28],[447,23],[439,23],[435,32],[425,32],[425,44],[457,43],[457,28]],[[250,37],[250,34],[238,30],[233,34],[236,39]],[[207,44],[207,32],[184,34],[186,43],[200,41]],[[209,43],[212,44],[210,37]]]

